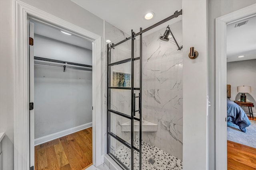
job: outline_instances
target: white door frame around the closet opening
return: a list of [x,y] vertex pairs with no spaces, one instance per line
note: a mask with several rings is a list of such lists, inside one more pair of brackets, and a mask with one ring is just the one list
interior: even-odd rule
[[[102,89],[102,60],[101,60],[101,38],[90,31],[82,29],[77,25],[52,16],[42,10],[28,4],[15,1],[15,92],[14,92],[14,170],[28,170],[30,168],[30,139],[29,139],[29,27],[30,16],[48,23],[53,23],[92,42],[92,159],[94,166],[103,163],[102,148],[104,141],[101,140],[102,117],[101,100]],[[97,126],[96,126],[97,125]]]

